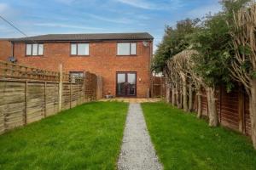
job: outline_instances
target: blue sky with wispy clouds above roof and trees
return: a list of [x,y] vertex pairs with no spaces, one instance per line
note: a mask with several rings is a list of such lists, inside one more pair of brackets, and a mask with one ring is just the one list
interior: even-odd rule
[[[154,49],[165,26],[221,10],[219,0],[0,0],[0,15],[27,36],[56,33],[144,32]],[[1,37],[24,37],[0,19]]]

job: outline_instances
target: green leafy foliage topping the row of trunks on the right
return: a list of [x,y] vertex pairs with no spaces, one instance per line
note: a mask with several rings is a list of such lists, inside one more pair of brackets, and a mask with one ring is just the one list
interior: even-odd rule
[[[157,49],[152,70],[166,68],[166,60],[185,48],[198,51],[193,57],[195,73],[208,87],[225,84],[227,91],[233,87],[230,77],[230,54],[234,54],[230,31],[234,29],[233,14],[251,0],[223,0],[223,10],[218,14],[207,14],[203,20],[181,20],[176,28],[166,26],[166,34]],[[229,23],[229,24],[228,24]],[[245,69],[250,65],[245,63]],[[253,73],[252,73],[253,74]]]

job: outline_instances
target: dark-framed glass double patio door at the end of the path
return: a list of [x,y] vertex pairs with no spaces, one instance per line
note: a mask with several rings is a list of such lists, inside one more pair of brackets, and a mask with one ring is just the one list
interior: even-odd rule
[[123,97],[136,96],[137,75],[136,72],[116,73],[116,95]]

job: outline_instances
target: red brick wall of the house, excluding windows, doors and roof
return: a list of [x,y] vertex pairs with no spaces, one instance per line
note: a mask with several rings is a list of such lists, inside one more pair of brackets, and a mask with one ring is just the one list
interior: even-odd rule
[[[115,95],[116,71],[137,71],[137,97],[147,97],[150,88],[150,47],[137,42],[137,56],[116,56],[116,42],[90,42],[90,56],[71,56],[69,42],[45,42],[44,56],[25,56],[25,43],[15,43],[15,57],[19,64],[57,71],[62,63],[64,71],[90,71],[103,77],[103,94]],[[141,82],[138,80],[141,78]]]

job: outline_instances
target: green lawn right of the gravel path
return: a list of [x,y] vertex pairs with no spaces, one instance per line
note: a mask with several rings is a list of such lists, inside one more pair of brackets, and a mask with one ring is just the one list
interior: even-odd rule
[[256,169],[250,140],[224,127],[208,127],[165,103],[143,104],[148,131],[165,169]]

